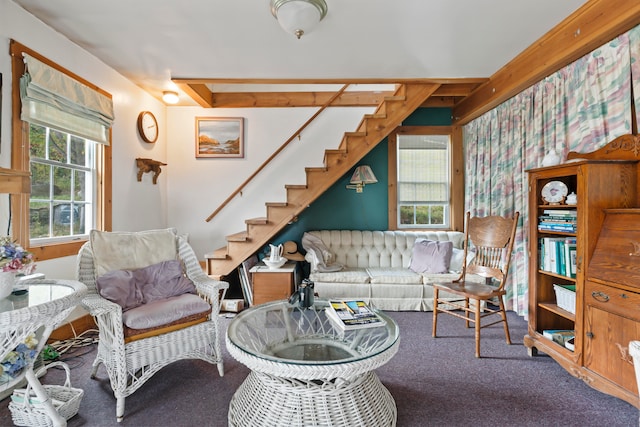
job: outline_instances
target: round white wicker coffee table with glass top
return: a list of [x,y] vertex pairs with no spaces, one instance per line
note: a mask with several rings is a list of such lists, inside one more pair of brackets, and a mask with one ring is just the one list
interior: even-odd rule
[[325,315],[287,301],[241,312],[227,330],[229,353],[251,369],[229,405],[230,426],[394,426],[396,404],[373,372],[398,350],[384,326],[341,332]]

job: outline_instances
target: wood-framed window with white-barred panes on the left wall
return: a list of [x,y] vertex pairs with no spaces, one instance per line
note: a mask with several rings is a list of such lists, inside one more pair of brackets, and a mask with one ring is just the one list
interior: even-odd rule
[[13,169],[31,173],[31,192],[11,196],[12,237],[39,260],[74,255],[89,230],[111,228],[111,122],[109,117],[103,120],[104,110],[96,120],[95,112],[85,111],[80,101],[71,106],[77,110],[51,108],[57,103],[47,104],[43,95],[68,95],[55,88],[47,92],[48,87],[44,91],[38,87],[33,100],[25,99],[21,77],[24,85],[27,70],[27,84],[38,84],[38,66],[47,73],[47,83],[58,79],[60,88],[77,91],[69,94],[72,97],[99,98],[109,109],[111,96],[13,40],[11,57],[12,91],[23,97],[13,97],[11,163]]

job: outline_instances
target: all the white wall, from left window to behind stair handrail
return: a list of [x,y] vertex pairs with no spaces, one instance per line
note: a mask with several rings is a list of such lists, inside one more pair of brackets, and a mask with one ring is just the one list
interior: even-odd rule
[[[243,192],[211,222],[205,219],[316,111],[315,108],[204,109],[169,107],[106,66],[78,45],[9,0],[0,0],[0,72],[3,75],[0,166],[10,167],[11,61],[9,40],[35,50],[113,95],[113,229],[176,227],[188,233],[200,260],[224,246],[225,236],[244,231],[248,218],[266,215],[265,202],[285,200],[285,184],[304,184],[304,168],[321,166],[326,148],[337,148],[345,131],[354,131],[373,108],[330,108],[302,132]],[[159,122],[155,144],[137,135],[140,111]],[[242,159],[195,158],[195,117],[243,117]],[[170,123],[170,126],[167,125]],[[158,183],[152,175],[137,182],[135,159],[167,163]],[[6,197],[5,197],[6,199]],[[6,233],[8,205],[0,196],[0,234]],[[74,278],[75,257],[41,261],[37,271],[50,278]]]

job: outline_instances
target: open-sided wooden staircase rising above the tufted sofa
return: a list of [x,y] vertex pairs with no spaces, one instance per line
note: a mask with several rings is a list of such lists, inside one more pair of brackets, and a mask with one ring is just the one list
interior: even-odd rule
[[216,277],[231,273],[242,261],[266,245],[322,193],[349,171],[402,121],[414,112],[438,84],[399,85],[373,114],[366,114],[355,132],[346,132],[337,149],[325,150],[324,167],[306,168],[306,185],[285,185],[286,202],[267,202],[266,217],[245,221],[245,231],[226,237],[227,245],[206,254],[207,274]]

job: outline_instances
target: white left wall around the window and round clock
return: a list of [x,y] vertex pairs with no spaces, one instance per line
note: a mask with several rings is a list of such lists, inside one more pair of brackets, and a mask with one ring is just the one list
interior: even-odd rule
[[[135,165],[136,157],[166,162],[164,104],[8,0],[0,0],[0,72],[3,79],[0,166],[11,167],[11,39],[113,95],[113,229],[166,226],[167,180],[160,179],[158,185],[153,185],[151,176],[146,174],[142,182],[137,182]],[[136,120],[142,110],[150,110],[158,118],[161,132],[155,144],[146,144],[137,135]],[[0,203],[0,234],[6,233],[7,218],[5,201]],[[38,262],[37,271],[46,273],[50,278],[73,278],[75,257]]]

